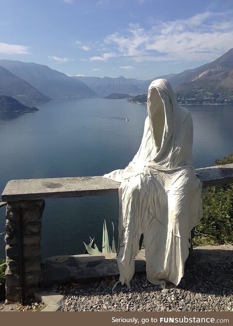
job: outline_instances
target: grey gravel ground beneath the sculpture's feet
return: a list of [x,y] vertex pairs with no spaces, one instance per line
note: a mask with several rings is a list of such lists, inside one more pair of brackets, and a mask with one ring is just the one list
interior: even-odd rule
[[[135,275],[131,289],[115,279],[65,290],[62,311],[233,311],[233,263],[189,267],[178,287],[162,290],[145,274]],[[52,290],[64,292],[55,286]]]

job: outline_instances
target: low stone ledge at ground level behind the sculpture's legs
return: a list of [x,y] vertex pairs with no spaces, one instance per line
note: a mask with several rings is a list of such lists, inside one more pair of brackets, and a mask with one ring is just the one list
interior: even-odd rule
[[[202,246],[194,248],[189,255],[186,266],[193,264],[212,264],[233,261],[233,245]],[[145,272],[145,250],[141,250],[135,258],[135,273]],[[42,263],[41,288],[55,284],[88,283],[106,277],[119,275],[116,259],[113,254],[93,256],[55,256]]]

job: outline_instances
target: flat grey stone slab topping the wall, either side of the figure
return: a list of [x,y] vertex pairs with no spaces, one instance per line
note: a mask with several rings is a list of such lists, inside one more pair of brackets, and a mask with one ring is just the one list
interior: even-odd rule
[[[233,164],[196,170],[202,186],[233,183]],[[9,181],[2,193],[3,201],[117,194],[120,183],[103,177],[30,179]]]

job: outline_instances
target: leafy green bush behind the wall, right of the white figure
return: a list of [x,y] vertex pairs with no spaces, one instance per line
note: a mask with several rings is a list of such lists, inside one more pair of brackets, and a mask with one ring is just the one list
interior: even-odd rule
[[[233,154],[215,161],[233,163]],[[233,243],[233,184],[207,188],[202,194],[203,218],[194,231],[194,245]]]

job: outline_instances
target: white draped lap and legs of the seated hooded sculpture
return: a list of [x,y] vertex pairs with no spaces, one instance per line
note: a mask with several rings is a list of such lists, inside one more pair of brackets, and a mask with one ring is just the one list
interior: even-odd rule
[[194,178],[187,169],[169,175],[151,170],[122,182],[117,262],[126,280],[133,275],[133,259],[143,233],[150,282],[180,282],[191,232],[190,195],[198,190]]

